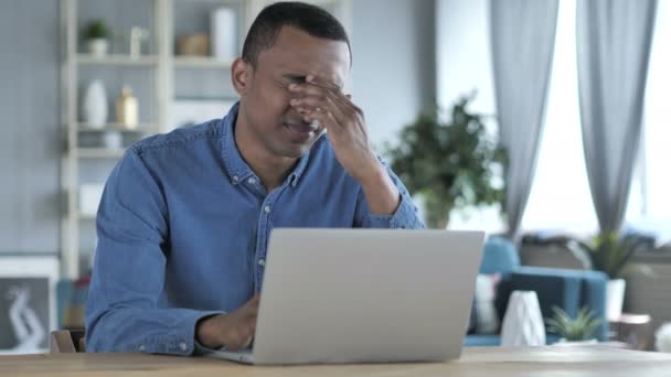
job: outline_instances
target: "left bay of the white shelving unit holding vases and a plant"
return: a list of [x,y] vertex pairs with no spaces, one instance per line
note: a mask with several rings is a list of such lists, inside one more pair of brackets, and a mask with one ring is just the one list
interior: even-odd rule
[[[167,39],[164,34],[164,25],[160,20],[166,15],[167,0],[143,0],[135,3],[117,3],[119,7],[126,6],[128,11],[132,11],[128,6],[149,7],[149,20],[142,19],[141,26],[150,30],[151,40],[148,42],[147,52],[139,56],[123,54],[116,51],[104,56],[95,56],[88,54],[82,49],[78,35],[81,22],[88,20],[79,19],[78,14],[82,7],[100,7],[100,18],[104,18],[110,23],[113,31],[115,30],[114,22],[107,19],[108,12],[105,7],[109,3],[92,0],[61,0],[61,19],[63,37],[65,41],[62,51],[62,88],[64,98],[62,104],[62,115],[64,123],[65,147],[62,159],[61,182],[65,193],[66,209],[63,214],[62,231],[61,231],[61,249],[62,249],[62,271],[63,276],[68,278],[77,278],[86,271],[86,267],[82,266],[82,248],[84,241],[82,237],[83,228],[90,228],[90,224],[95,220],[94,215],[83,214],[79,212],[79,187],[83,183],[90,183],[95,179],[86,176],[87,171],[92,169],[96,171],[95,175],[106,175],[111,166],[125,153],[125,148],[104,148],[102,146],[84,144],[85,139],[100,140],[105,132],[117,132],[123,139],[139,140],[140,138],[160,132],[162,125],[166,123],[166,112],[168,100],[164,95],[164,88],[169,79],[164,61],[170,57],[171,52],[168,51],[168,44],[163,42]],[[124,10],[121,8],[121,10]],[[119,18],[119,15],[116,15]],[[118,20],[115,19],[118,22]],[[82,122],[79,118],[79,104],[82,101],[82,93],[79,90],[87,84],[90,77],[100,77],[106,86],[114,87],[115,84],[130,84],[134,89],[140,87],[147,95],[139,97],[140,107],[145,107],[140,111],[141,123],[137,127],[129,128],[125,125],[115,122],[113,107],[108,108],[108,119],[110,122],[104,127],[92,127]],[[141,82],[137,82],[140,79]],[[145,84],[145,85],[142,85]],[[141,91],[141,90],[138,90]],[[107,90],[108,103],[113,103],[119,93]],[[123,147],[126,147],[123,143]],[[84,166],[86,165],[86,166]],[[94,168],[92,168],[94,166]],[[88,168],[88,169],[84,169]],[[99,182],[103,184],[104,182]],[[82,223],[84,222],[84,223]],[[90,233],[90,230],[88,231]],[[89,238],[95,239],[95,235]],[[93,245],[86,246],[87,255],[90,255]]]

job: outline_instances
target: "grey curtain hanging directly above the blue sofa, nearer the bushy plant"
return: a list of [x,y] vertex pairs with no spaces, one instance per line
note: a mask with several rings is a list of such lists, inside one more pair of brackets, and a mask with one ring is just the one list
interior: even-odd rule
[[516,238],[534,175],[554,52],[557,0],[490,0],[494,94],[507,148],[505,213]]

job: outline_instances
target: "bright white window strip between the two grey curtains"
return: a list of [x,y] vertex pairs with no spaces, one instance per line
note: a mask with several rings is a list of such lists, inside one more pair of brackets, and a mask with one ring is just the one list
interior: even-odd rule
[[545,128],[523,230],[576,229],[589,233],[597,218],[587,181],[575,49],[575,0],[560,1]]

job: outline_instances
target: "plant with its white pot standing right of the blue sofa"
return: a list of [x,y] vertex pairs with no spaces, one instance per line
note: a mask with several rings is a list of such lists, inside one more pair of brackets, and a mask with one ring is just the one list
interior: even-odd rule
[[633,263],[633,256],[652,248],[652,240],[637,234],[619,235],[617,231],[601,231],[588,241],[567,238],[566,247],[578,258],[585,268],[605,272],[606,317],[617,320],[622,313],[625,301],[625,277],[632,272],[651,274],[649,266]]

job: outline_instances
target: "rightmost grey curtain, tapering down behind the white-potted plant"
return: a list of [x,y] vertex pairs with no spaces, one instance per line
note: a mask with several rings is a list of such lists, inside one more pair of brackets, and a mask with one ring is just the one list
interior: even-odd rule
[[641,136],[657,0],[577,2],[583,148],[601,230],[619,230]]

